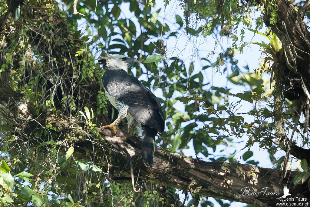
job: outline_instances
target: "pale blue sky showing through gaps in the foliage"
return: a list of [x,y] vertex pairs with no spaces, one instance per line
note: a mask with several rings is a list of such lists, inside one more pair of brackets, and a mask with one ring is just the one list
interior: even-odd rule
[[[167,51],[167,56],[178,56],[179,58],[183,59],[185,61],[185,65],[188,67],[188,65],[194,61],[194,65],[195,65],[195,70],[194,73],[197,73],[200,71],[200,69],[206,65],[206,61],[201,61],[202,57],[206,57],[209,52],[211,51],[215,51],[215,55],[212,57],[211,56],[211,62],[215,61],[219,52],[223,52],[220,51],[220,47],[219,45],[215,45],[215,40],[217,40],[216,36],[208,36],[206,38],[203,37],[196,37],[196,36],[188,36],[186,35],[186,32],[184,31],[184,28],[179,29],[178,25],[173,24],[175,22],[175,15],[179,15],[181,16],[183,19],[183,15],[184,15],[184,11],[182,9],[182,7],[179,6],[179,2],[170,2],[169,5],[167,7],[164,6],[164,2],[162,0],[157,0],[156,1],[156,6],[152,9],[152,11],[157,11],[158,9],[161,8],[160,13],[158,14],[157,18],[162,22],[165,23],[167,25],[169,25],[171,32],[173,31],[178,31],[179,35],[177,36],[177,38],[169,38],[169,41],[166,41],[165,38],[163,38],[165,44],[166,44],[166,51]],[[259,12],[255,13],[255,15],[259,15]],[[136,26],[138,26],[137,24],[137,20],[135,19],[135,15],[133,13],[131,13],[129,11],[129,3],[122,3],[121,5],[121,15],[120,18],[128,18],[131,19],[134,23],[136,23]],[[94,16],[94,19],[96,19],[96,17]],[[184,21],[183,21],[184,22]],[[85,28],[85,22],[83,20],[78,21],[79,23],[79,29]],[[253,21],[253,25],[255,25],[255,22]],[[255,27],[255,26],[254,26]],[[254,29],[254,28],[253,28]],[[138,32],[138,31],[137,31]],[[263,31],[262,31],[263,32]],[[94,32],[92,35],[97,35],[96,32]],[[255,41],[255,42],[261,42],[261,41],[265,41],[267,39],[265,39],[263,36],[256,34],[254,36],[254,34],[248,30],[246,30],[245,33],[245,38],[244,41],[245,42],[251,42],[251,41]],[[230,40],[227,40],[226,38],[222,38],[220,43],[222,44],[222,46],[226,49],[227,47],[231,46],[231,42]],[[243,50],[243,53],[236,53],[235,55],[235,59],[238,60],[238,66],[240,68],[242,68],[243,66],[248,65],[250,68],[250,72],[253,72],[255,69],[257,69],[259,67],[259,62],[261,61],[260,56],[261,51],[259,50],[259,46],[255,45],[255,44],[250,44],[249,46],[245,47]],[[231,88],[231,93],[237,93],[240,92],[241,90],[244,90],[243,87],[241,86],[236,86],[232,83],[230,83],[227,79],[225,75],[222,75],[219,71],[217,71],[217,68],[209,68],[207,70],[203,71],[203,75],[204,78],[210,82],[211,86],[216,86],[216,87],[224,87],[224,88]],[[140,80],[143,81],[145,77],[141,76],[139,77]],[[265,75],[264,78],[268,79],[268,75]],[[155,92],[155,94],[157,96],[161,96],[160,92]],[[230,101],[234,101],[233,97],[229,97]],[[184,110],[184,106],[183,104],[181,104],[180,102],[177,102],[175,104],[175,107],[178,108],[178,110]],[[246,102],[243,101],[242,102],[242,110],[250,110],[253,106]],[[244,146],[245,146],[245,142],[248,140],[248,137],[243,137],[240,140],[237,140],[238,142],[240,142],[239,144],[235,144],[234,146],[219,146],[217,147],[217,150],[215,151],[215,153],[213,153],[215,156],[216,155],[225,155],[225,156],[229,156],[231,153],[233,153],[235,150],[237,150],[237,153],[235,154],[235,158],[241,162],[241,163],[245,163],[245,161],[243,161],[241,159],[241,156],[243,155],[244,152],[246,152],[248,150],[248,148],[241,150]],[[193,144],[192,142],[188,143],[188,146],[190,147],[189,149],[183,150],[183,153],[186,156],[193,156],[196,157],[195,152],[193,150]],[[209,149],[208,149],[209,150]],[[261,149],[259,147],[258,144],[254,144],[251,148],[251,151],[253,151],[254,156],[252,157],[252,159],[254,159],[255,161],[259,161],[259,166],[261,167],[266,167],[266,168],[272,168],[273,164],[270,162],[269,160],[269,156],[267,151]],[[210,151],[212,151],[210,149]],[[278,153],[277,157],[283,156],[283,152]],[[202,154],[198,154],[198,157],[205,160],[205,161],[210,161],[208,160],[206,157],[204,157]],[[184,194],[181,194],[182,191],[179,191],[180,193],[180,200],[184,199]],[[209,198],[210,201],[212,201],[215,206],[219,206],[217,204],[217,202],[212,199]],[[237,203],[237,202],[232,202],[231,206],[244,206],[244,204],[241,203]]]

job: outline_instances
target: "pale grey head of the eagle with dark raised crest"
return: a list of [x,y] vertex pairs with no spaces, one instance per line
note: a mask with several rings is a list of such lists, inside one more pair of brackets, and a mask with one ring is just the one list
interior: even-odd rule
[[99,65],[103,65],[106,70],[125,70],[128,72],[128,67],[134,63],[138,62],[137,59],[133,57],[127,57],[124,55],[111,55],[108,54],[107,57],[100,57],[98,59]]

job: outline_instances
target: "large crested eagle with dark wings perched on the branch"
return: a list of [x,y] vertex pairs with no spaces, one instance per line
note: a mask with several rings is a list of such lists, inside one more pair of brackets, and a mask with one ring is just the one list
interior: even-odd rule
[[126,117],[128,132],[132,134],[138,123],[142,130],[143,162],[152,167],[155,135],[164,131],[165,120],[157,97],[138,79],[127,73],[128,66],[136,62],[137,59],[123,55],[100,57],[99,64],[106,70],[102,77],[105,94],[118,110],[117,119],[101,128],[108,128],[116,134],[116,126]]

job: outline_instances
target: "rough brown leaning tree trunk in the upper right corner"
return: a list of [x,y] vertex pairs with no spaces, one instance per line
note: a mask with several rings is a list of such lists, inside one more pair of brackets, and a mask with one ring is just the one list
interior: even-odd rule
[[[266,3],[266,5],[268,4]],[[302,77],[307,77],[304,82],[309,90],[310,32],[293,5],[286,0],[277,0],[277,7],[277,22],[270,25],[270,16],[267,12],[265,23],[281,40],[282,47],[285,50],[287,67]]]

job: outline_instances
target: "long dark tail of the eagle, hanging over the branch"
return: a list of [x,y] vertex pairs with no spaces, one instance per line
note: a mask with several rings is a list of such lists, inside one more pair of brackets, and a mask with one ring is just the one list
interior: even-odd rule
[[155,150],[155,135],[157,131],[146,125],[142,125],[142,158],[146,166],[152,167],[154,150]]

